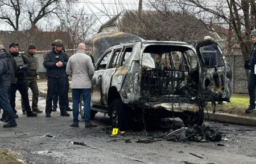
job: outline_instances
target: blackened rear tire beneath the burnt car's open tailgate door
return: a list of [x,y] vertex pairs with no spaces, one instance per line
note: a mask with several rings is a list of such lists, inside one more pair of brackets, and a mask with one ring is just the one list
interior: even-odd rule
[[183,111],[180,115],[180,119],[183,120],[185,127],[192,127],[194,125],[202,126],[204,123],[204,110],[200,108],[197,113]]

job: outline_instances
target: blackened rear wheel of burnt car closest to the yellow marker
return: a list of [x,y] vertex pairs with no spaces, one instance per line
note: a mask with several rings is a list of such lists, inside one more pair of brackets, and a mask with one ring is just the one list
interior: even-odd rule
[[131,110],[120,98],[114,99],[110,103],[110,120],[112,127],[121,131],[128,130],[131,127]]

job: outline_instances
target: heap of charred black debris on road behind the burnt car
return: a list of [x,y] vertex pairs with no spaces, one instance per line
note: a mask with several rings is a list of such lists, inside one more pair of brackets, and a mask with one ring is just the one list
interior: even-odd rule
[[215,132],[209,126],[193,126],[190,128],[180,128],[174,132],[168,133],[166,136],[167,141],[185,142],[208,142],[220,141],[221,133]]

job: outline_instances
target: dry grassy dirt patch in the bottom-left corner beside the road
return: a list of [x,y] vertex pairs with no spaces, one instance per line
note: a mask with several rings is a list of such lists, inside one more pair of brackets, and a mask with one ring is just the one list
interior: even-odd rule
[[18,158],[15,157],[14,154],[0,150],[0,163],[5,163],[5,164],[21,164],[25,163],[19,160]]

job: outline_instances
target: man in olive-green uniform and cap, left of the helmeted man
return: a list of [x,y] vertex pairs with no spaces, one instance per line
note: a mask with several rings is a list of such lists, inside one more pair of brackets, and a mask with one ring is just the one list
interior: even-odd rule
[[[27,70],[24,71],[24,80],[27,84],[27,87],[29,87],[32,91],[32,111],[34,111],[35,113],[42,113],[43,111],[38,109],[39,91],[38,91],[38,83],[36,83],[36,80],[39,80],[39,75],[36,72],[38,68],[38,62],[34,57],[35,52],[36,52],[36,45],[30,44],[28,45],[27,51],[22,54],[24,64],[27,65]],[[26,113],[26,110],[24,109],[23,101],[22,101],[22,111],[23,113]]]

